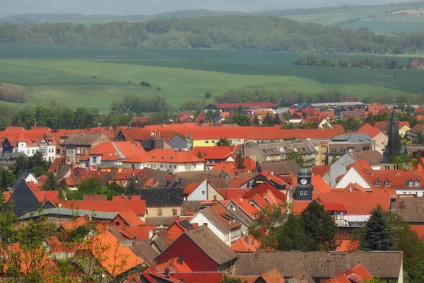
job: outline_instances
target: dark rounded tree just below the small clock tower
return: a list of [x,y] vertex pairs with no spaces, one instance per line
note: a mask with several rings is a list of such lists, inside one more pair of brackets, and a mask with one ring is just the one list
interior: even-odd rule
[[336,250],[336,221],[325,210],[324,205],[312,200],[300,214],[300,221],[309,238],[310,250]]

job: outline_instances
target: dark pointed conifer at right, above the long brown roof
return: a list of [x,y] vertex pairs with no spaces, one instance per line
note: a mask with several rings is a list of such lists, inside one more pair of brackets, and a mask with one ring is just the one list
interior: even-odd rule
[[370,219],[365,223],[360,246],[363,250],[394,250],[394,237],[380,205],[372,209]]

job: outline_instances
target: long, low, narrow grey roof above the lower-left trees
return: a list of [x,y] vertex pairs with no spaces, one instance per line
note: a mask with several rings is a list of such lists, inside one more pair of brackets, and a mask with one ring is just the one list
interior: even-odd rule
[[80,210],[80,209],[69,209],[69,208],[61,208],[54,207],[49,209],[42,210],[40,212],[28,212],[27,214],[20,216],[18,220],[28,220],[33,217],[38,216],[84,216],[88,215],[93,218],[93,220],[107,219],[113,220],[118,215],[117,212],[93,212],[93,210]]

